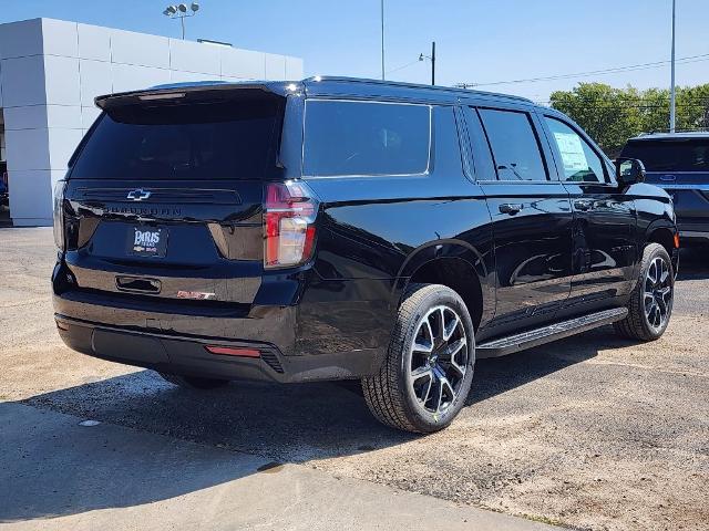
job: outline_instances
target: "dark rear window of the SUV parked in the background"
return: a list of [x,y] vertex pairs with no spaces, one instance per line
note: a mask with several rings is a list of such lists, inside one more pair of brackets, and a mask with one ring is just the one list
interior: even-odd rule
[[648,171],[709,171],[709,138],[631,140],[621,156],[639,158]]

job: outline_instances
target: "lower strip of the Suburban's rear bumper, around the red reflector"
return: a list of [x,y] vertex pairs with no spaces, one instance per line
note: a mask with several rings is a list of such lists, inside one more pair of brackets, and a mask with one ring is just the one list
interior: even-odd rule
[[[62,341],[74,351],[161,372],[278,383],[357,378],[370,374],[377,350],[286,356],[271,343],[131,330],[56,313]],[[258,357],[212,354],[207,345],[256,350]]]

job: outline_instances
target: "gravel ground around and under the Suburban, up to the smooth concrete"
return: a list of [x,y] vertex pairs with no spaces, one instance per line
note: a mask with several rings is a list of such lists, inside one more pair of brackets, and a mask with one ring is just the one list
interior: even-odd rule
[[649,344],[605,327],[476,366],[446,430],[377,424],[347,386],[189,393],[75,354],[52,321],[50,229],[0,230],[0,399],[307,462],[593,530],[709,529],[709,252],[682,256],[675,315]]

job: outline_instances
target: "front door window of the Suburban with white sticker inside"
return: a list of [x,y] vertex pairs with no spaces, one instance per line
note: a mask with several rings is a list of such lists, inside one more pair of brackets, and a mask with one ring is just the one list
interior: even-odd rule
[[564,122],[549,116],[545,116],[544,119],[562,156],[564,180],[604,183],[603,159],[588,143]]

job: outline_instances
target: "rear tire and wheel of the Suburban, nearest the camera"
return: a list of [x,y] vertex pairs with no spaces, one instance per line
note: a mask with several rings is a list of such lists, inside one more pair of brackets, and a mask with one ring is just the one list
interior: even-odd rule
[[[460,327],[454,325],[455,317]],[[430,353],[413,346],[417,339],[425,341],[424,320],[429,320]],[[440,331],[440,340],[434,329]],[[444,340],[449,330],[453,332]],[[463,300],[445,285],[412,284],[399,306],[384,362],[377,374],[362,378],[364,399],[374,417],[387,426],[419,434],[438,431],[449,426],[465,405],[474,364],[474,329]]]

